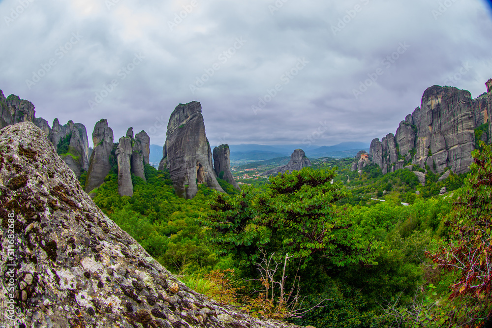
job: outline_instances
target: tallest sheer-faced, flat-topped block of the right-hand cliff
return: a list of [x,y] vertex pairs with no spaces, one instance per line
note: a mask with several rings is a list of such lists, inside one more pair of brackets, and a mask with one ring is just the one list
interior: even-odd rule
[[469,170],[471,151],[475,149],[475,116],[470,92],[452,87],[428,88],[422,96],[417,127],[414,164],[423,168],[432,156],[437,173],[446,167],[458,174]]

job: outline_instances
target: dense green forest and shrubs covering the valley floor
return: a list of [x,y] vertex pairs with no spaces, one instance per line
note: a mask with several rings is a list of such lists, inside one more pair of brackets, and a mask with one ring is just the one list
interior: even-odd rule
[[468,175],[428,171],[425,186],[409,170],[359,174],[353,159],[324,158],[242,192],[199,185],[192,200],[149,165],[147,182],[133,176],[133,197],[120,197],[115,166],[94,202],[188,287],[254,316],[480,327],[492,312],[492,148],[480,148]]

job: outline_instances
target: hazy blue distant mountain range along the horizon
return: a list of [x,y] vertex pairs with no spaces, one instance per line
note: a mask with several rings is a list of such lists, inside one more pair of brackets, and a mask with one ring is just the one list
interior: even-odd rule
[[[211,146],[212,150],[215,146]],[[162,146],[151,145],[150,162],[158,163],[162,158]],[[231,149],[231,161],[261,161],[276,157],[290,156],[295,149],[303,149],[307,157],[333,157],[345,158],[355,157],[360,150],[369,152],[369,143],[363,142],[343,142],[334,146],[310,146],[293,144],[293,145],[258,145],[258,144],[241,144],[229,145]]]

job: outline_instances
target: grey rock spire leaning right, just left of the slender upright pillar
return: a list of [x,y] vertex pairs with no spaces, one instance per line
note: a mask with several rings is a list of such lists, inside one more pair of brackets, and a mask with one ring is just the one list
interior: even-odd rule
[[113,130],[107,119],[101,119],[94,126],[92,132],[92,149],[89,170],[87,170],[85,190],[90,193],[104,183],[104,178],[111,170],[111,150],[113,149]]

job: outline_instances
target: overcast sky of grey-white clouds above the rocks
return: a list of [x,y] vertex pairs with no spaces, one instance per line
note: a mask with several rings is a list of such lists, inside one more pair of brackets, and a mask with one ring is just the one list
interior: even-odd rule
[[[165,141],[200,101],[211,144],[370,142],[434,84],[492,78],[482,0],[0,0],[0,89],[36,117]],[[91,139],[91,136],[89,136]],[[91,141],[90,141],[91,143]]]

